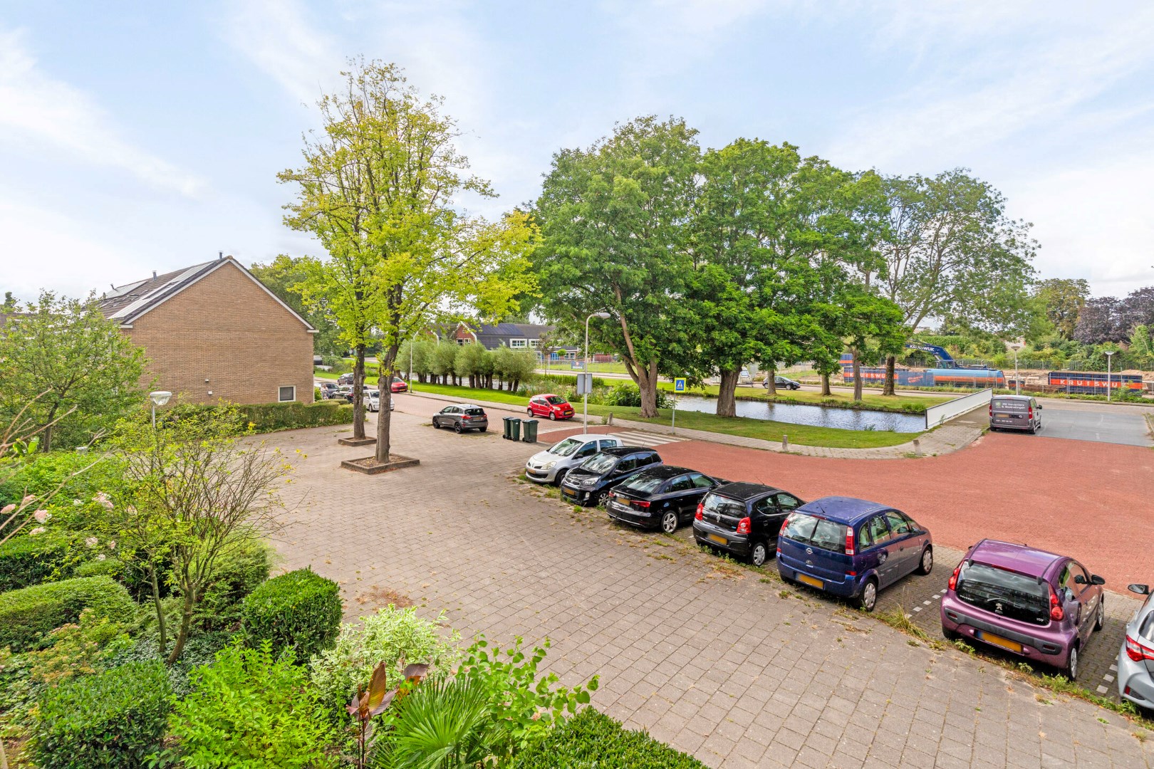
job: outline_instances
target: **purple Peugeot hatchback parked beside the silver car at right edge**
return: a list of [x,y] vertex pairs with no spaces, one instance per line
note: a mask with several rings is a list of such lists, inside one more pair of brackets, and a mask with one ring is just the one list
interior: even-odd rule
[[1082,648],[1106,621],[1103,585],[1073,558],[982,540],[950,576],[942,634],[1051,665],[1074,680]]

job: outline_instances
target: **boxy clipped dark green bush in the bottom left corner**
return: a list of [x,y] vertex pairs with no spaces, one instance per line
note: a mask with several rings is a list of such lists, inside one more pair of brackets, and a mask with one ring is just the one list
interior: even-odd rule
[[113,668],[47,688],[32,726],[31,754],[44,769],[136,769],[164,736],[168,679],[159,662]]

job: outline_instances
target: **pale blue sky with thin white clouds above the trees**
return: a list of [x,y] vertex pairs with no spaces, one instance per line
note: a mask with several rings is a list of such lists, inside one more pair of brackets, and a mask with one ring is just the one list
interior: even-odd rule
[[1154,3],[1005,0],[0,2],[0,291],[84,294],[208,258],[316,254],[280,223],[345,59],[445,98],[497,214],[562,146],[676,114],[704,146],[965,166],[1042,277],[1154,284]]

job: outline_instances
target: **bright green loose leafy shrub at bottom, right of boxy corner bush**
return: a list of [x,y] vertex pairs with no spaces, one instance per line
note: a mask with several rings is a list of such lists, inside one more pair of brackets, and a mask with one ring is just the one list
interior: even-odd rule
[[180,766],[335,766],[325,755],[331,719],[307,671],[294,662],[292,649],[273,656],[264,641],[258,649],[227,647],[211,665],[193,671],[193,692],[168,721]]

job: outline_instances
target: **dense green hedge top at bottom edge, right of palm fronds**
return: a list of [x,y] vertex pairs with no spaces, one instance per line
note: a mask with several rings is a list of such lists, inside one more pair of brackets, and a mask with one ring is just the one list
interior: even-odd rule
[[632,732],[593,708],[546,732],[544,739],[517,754],[515,769],[594,769],[646,767],[646,769],[704,769],[691,755],[659,742],[645,732]]

